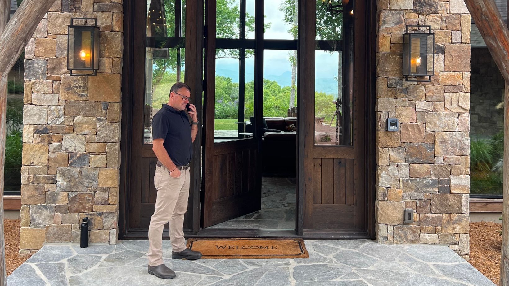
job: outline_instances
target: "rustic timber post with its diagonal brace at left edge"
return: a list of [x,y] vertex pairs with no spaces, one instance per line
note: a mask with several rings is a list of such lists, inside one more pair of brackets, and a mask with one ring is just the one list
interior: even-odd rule
[[[7,285],[4,248],[4,163],[7,76],[55,0],[24,0],[9,21],[11,2],[0,0],[0,285]],[[7,23],[9,21],[9,23]],[[5,28],[4,28],[5,27]],[[9,48],[5,48],[9,47]]]

